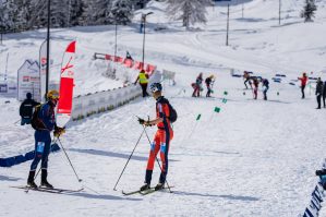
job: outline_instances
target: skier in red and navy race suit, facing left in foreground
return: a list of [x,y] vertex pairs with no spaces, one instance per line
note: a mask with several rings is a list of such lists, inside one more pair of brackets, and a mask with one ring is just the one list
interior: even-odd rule
[[153,97],[156,99],[156,119],[145,121],[138,119],[138,122],[143,125],[157,125],[157,131],[154,137],[154,142],[150,145],[149,157],[147,161],[146,174],[145,174],[145,184],[141,188],[141,191],[145,191],[150,188],[152,174],[154,169],[154,161],[156,155],[160,152],[161,160],[161,173],[159,177],[159,182],[155,186],[155,190],[160,190],[164,188],[164,184],[167,179],[168,173],[168,153],[170,147],[170,142],[173,138],[173,131],[170,123],[170,109],[169,101],[161,95],[161,84],[153,83],[150,85],[150,92]]

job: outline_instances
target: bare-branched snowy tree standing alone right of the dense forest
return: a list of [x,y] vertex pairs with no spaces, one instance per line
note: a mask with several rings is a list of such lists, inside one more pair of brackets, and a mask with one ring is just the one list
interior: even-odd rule
[[182,20],[183,26],[206,23],[206,7],[212,5],[212,0],[168,0],[167,11],[171,19]]

